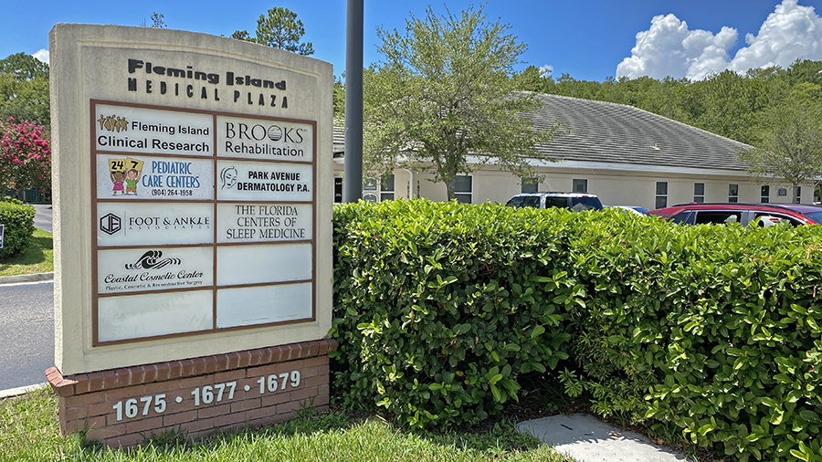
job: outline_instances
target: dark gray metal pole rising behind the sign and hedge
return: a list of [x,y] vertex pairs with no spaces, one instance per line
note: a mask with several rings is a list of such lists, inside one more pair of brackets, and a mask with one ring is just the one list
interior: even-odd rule
[[363,198],[363,1],[348,0],[342,202]]

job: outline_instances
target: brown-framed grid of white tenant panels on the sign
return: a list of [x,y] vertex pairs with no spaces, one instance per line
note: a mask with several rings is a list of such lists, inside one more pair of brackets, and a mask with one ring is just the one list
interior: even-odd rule
[[315,122],[91,114],[94,344],[315,318]]

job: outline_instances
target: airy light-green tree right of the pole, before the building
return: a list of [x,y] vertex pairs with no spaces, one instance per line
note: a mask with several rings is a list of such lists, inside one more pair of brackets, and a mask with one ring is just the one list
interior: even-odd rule
[[[411,16],[406,31],[377,31],[385,62],[364,73],[364,169],[432,173],[455,198],[455,180],[495,161],[522,178],[539,177],[527,158],[557,134],[535,130],[532,93],[513,91],[513,65],[525,50],[508,25],[485,21],[482,8],[461,16]],[[477,156],[478,162],[469,159]]]

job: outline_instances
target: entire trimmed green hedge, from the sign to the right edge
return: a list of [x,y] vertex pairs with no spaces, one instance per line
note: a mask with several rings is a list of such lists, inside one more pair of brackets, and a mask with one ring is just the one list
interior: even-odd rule
[[391,201],[338,206],[334,244],[350,402],[470,424],[559,365],[602,415],[822,460],[822,226]]

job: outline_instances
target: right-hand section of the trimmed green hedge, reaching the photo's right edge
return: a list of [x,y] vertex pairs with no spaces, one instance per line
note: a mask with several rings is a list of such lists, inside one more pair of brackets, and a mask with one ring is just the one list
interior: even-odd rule
[[569,253],[596,303],[568,332],[591,342],[572,352],[586,387],[646,387],[628,420],[739,460],[822,460],[822,226],[579,225]]

